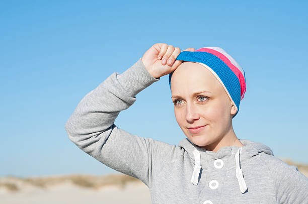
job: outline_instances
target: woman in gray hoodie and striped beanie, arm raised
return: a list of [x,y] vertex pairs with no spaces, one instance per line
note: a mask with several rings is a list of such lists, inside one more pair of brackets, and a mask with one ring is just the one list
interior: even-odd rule
[[[176,120],[187,138],[175,146],[117,128],[120,111],[167,74]],[[223,49],[181,52],[158,43],[90,91],[65,130],[98,161],[145,183],[152,203],[308,203],[308,178],[296,166],[274,157],[268,146],[235,135],[232,119],[245,91],[244,70]]]

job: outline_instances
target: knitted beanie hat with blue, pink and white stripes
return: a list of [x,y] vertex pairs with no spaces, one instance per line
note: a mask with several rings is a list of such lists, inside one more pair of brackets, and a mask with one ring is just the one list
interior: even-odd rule
[[[241,66],[223,49],[219,47],[203,47],[195,52],[182,51],[176,60],[196,62],[206,67],[222,84],[233,105],[239,113],[240,101],[246,91],[245,72]],[[169,86],[171,89],[171,77],[169,74]]]

